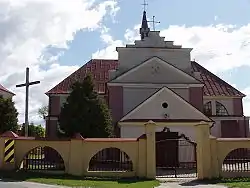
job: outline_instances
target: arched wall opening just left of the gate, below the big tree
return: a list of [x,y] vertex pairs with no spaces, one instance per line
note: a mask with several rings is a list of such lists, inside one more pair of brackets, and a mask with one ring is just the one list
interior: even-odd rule
[[88,171],[133,171],[129,156],[118,148],[105,148],[96,153],[89,162]]

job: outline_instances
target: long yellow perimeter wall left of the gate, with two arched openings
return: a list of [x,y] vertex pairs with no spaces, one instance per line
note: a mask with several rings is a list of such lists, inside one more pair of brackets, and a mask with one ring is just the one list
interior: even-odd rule
[[[155,178],[154,161],[154,128],[145,125],[145,130],[151,132],[149,136],[138,139],[122,138],[89,138],[71,139],[66,141],[48,141],[46,139],[17,137],[15,139],[14,163],[5,163],[4,141],[10,137],[0,138],[0,169],[19,169],[22,160],[32,149],[36,147],[51,147],[63,158],[65,173],[78,176],[118,176],[118,177],[142,177]],[[152,138],[151,138],[152,137]],[[89,172],[88,166],[91,158],[105,148],[118,148],[125,152],[133,163],[131,172]]]

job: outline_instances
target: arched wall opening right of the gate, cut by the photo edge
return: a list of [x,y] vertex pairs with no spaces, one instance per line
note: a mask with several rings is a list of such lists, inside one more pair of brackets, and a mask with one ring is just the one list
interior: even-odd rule
[[[222,172],[240,173],[250,172],[250,149],[238,148],[231,151],[223,161]],[[230,174],[229,174],[230,175]],[[235,174],[234,174],[235,175]]]

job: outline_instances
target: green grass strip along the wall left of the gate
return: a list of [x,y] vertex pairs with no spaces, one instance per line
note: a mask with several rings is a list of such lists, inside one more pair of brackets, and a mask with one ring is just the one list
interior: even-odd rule
[[141,179],[97,179],[81,178],[70,175],[45,175],[25,172],[0,172],[0,178],[15,181],[30,181],[44,184],[64,185],[69,187],[91,188],[154,188],[159,185],[156,180]]

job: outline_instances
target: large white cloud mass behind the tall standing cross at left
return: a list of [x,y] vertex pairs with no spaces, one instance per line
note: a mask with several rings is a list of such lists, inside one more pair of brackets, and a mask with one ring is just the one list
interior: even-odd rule
[[41,80],[30,88],[30,121],[37,121],[38,108],[47,103],[44,92],[77,69],[60,66],[63,51],[53,55],[46,48],[67,49],[77,31],[100,29],[104,16],[113,17],[118,10],[114,0],[0,0],[0,83],[16,93],[20,123],[25,89],[15,85],[24,82],[25,67],[30,67],[32,81]]

